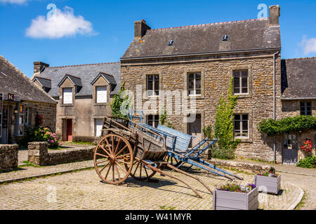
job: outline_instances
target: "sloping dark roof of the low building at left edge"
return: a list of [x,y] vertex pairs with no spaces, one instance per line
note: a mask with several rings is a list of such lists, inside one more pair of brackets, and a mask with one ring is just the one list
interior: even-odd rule
[[0,92],[16,94],[21,100],[56,104],[44,90],[41,90],[22,71],[0,55]]

